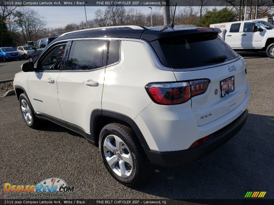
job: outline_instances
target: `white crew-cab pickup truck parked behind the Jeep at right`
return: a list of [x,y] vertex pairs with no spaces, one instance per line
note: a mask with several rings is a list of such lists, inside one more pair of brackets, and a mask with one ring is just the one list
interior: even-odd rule
[[220,24],[211,24],[220,28],[221,38],[236,51],[266,51],[274,58],[274,25],[264,20],[245,20]]

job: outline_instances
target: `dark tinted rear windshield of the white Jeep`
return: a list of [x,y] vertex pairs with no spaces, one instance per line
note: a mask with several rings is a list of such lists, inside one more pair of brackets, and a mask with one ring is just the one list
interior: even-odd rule
[[217,34],[172,36],[153,41],[151,45],[162,64],[175,69],[214,65],[238,56]]

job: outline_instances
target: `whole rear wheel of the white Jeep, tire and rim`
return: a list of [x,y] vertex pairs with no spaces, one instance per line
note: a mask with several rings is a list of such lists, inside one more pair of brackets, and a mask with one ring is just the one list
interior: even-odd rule
[[106,169],[118,182],[134,186],[150,173],[150,162],[134,131],[118,123],[103,127],[99,148]]

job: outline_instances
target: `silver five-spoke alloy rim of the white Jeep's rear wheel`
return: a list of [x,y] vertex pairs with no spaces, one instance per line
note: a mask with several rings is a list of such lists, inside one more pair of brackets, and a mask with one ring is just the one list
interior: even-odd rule
[[124,141],[116,135],[109,135],[104,140],[104,156],[112,171],[122,178],[132,173],[133,160]]

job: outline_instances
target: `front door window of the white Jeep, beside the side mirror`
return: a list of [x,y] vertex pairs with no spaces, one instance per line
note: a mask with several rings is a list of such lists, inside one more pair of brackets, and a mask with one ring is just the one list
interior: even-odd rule
[[60,70],[61,60],[67,44],[54,46],[42,59],[40,70]]

